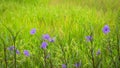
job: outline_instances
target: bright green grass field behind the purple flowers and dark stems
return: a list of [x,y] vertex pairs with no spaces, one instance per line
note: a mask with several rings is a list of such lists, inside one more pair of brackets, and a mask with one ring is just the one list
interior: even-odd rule
[[[82,61],[83,68],[91,68],[88,56],[90,43],[85,37],[94,34],[95,52],[101,49],[100,66],[113,68],[113,60],[106,52],[106,38],[110,37],[111,45],[116,46],[116,23],[119,19],[120,0],[0,0],[0,35],[4,38],[7,47],[13,45],[10,33],[2,25],[5,24],[13,34],[21,30],[17,38],[17,48],[21,54],[17,55],[18,68],[43,67],[43,50],[40,48],[43,34],[56,37],[55,43],[49,43],[47,51],[51,53],[54,68],[60,68],[67,63],[73,68],[74,63]],[[104,35],[102,28],[110,26],[110,34]],[[119,23],[118,23],[119,24]],[[37,29],[35,36],[30,35],[32,28]],[[3,45],[0,42],[0,65],[4,68]],[[65,54],[62,53],[63,47]],[[23,50],[30,51],[31,56],[26,58]],[[115,50],[114,50],[115,49]],[[113,47],[116,55],[116,47]],[[115,56],[114,55],[114,56]],[[64,57],[65,56],[65,57]],[[13,55],[7,51],[8,66],[13,67]],[[66,60],[66,61],[63,61]],[[50,65],[48,60],[48,66]],[[49,68],[49,67],[48,67]]]

